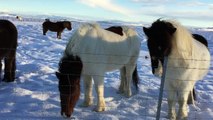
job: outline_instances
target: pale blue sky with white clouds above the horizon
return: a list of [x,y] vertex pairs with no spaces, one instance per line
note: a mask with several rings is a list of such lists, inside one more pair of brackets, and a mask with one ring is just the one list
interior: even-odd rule
[[172,18],[190,26],[213,26],[213,0],[0,0],[0,3],[0,12],[148,23]]

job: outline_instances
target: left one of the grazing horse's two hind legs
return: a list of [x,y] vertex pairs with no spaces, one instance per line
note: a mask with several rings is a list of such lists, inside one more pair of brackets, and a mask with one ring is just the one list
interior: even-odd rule
[[123,93],[124,93],[124,88],[125,88],[124,83],[125,83],[125,81],[126,81],[125,75],[126,75],[126,69],[125,69],[125,67],[122,67],[122,68],[120,69],[121,83],[120,83],[119,90],[118,90],[118,93],[119,93],[119,94],[123,94]]

